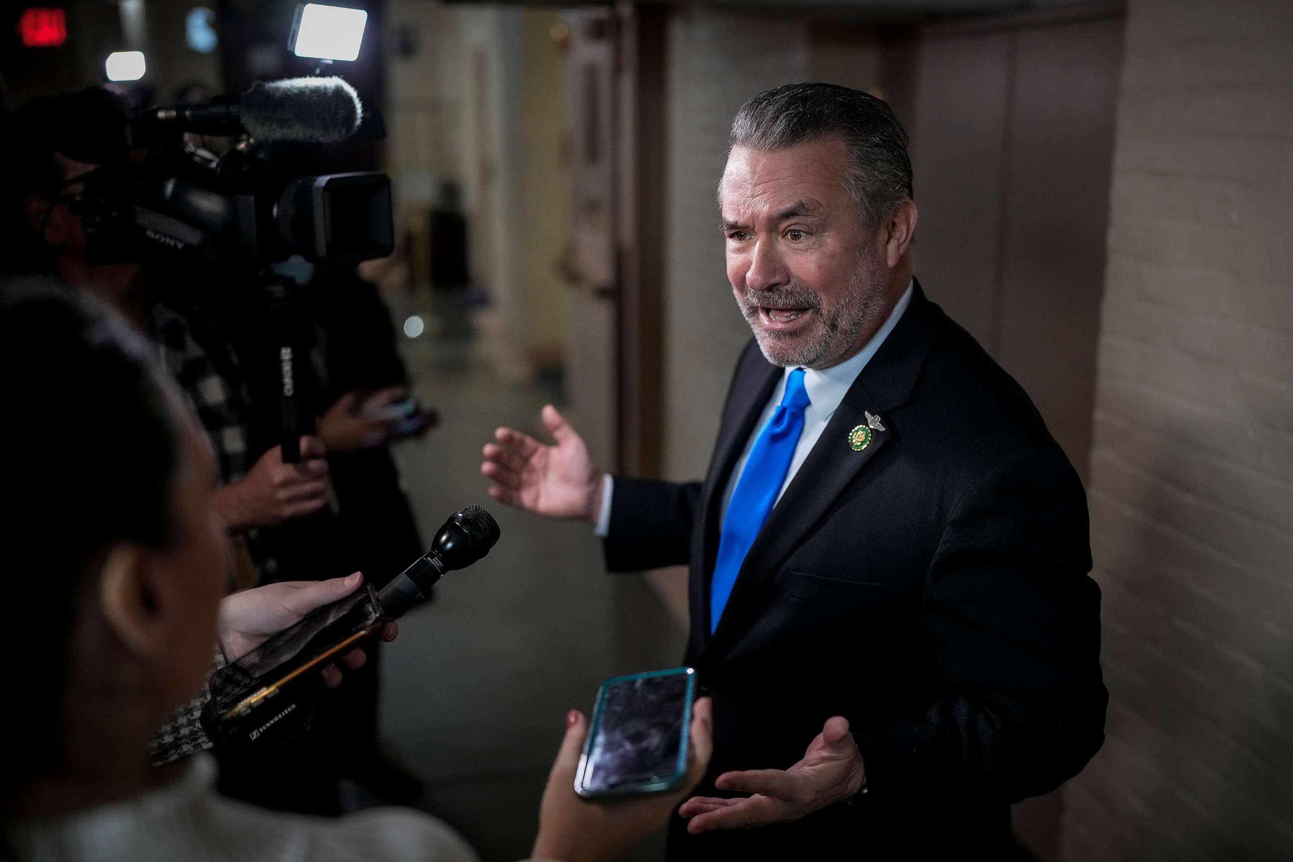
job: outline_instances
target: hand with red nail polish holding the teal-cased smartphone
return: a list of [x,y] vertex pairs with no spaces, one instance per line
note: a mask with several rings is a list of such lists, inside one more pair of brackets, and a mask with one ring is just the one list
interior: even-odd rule
[[566,721],[566,735],[539,805],[539,835],[530,854],[538,859],[609,862],[617,858],[663,827],[710,765],[711,703],[701,698],[692,706],[692,744],[687,753],[687,777],[679,790],[613,801],[586,800],[574,792],[574,774],[588,735],[588,720],[572,711]]

